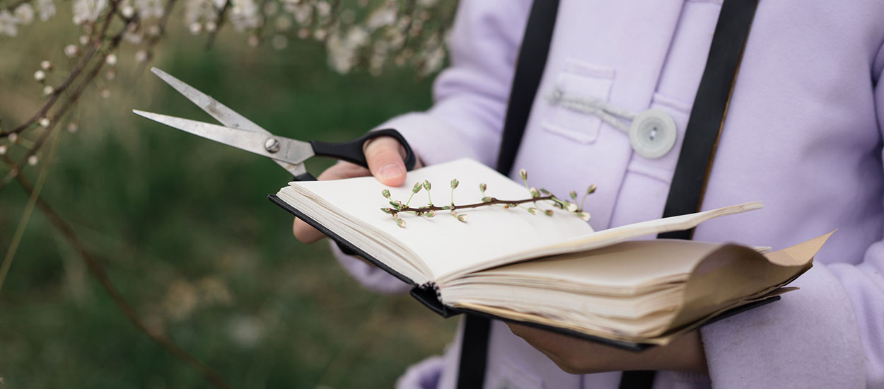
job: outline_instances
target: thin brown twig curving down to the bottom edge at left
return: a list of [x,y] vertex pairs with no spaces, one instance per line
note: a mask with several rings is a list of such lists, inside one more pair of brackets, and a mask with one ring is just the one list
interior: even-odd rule
[[[4,158],[8,162],[12,162],[9,156],[4,156]],[[61,233],[65,240],[68,241],[69,244],[80,254],[80,257],[88,266],[88,269],[95,278],[98,278],[98,281],[103,286],[105,292],[110,295],[110,298],[117,305],[117,308],[120,309],[124,315],[129,319],[132,324],[135,325],[141,332],[144,332],[150,339],[154,340],[161,347],[164,347],[168,350],[172,355],[175,355],[180,360],[187,362],[191,368],[196,370],[198,373],[202,375],[202,378],[205,378],[212,385],[215,385],[219,388],[229,388],[230,385],[227,385],[224,378],[217,375],[217,373],[210,369],[209,366],[200,362],[200,360],[196,359],[193,355],[190,355],[183,348],[179,347],[175,342],[171,339],[167,338],[163,333],[156,332],[151,329],[147,324],[141,321],[141,318],[138,317],[138,314],[135,313],[135,309],[132,308],[131,305],[126,301],[122,294],[119,294],[117,287],[110,282],[110,278],[107,275],[107,272],[104,271],[104,267],[101,263],[95,260],[95,257],[92,256],[91,253],[80,243],[80,239],[77,238],[77,234],[73,232],[73,228],[71,225],[68,225],[65,222],[65,219],[58,216],[55,210],[52,210],[50,205],[43,201],[40,195],[34,195],[34,187],[31,186],[30,182],[22,176],[19,175],[16,177],[19,180],[19,184],[29,195],[33,195],[36,199],[37,207],[42,210],[43,214],[46,215],[50,219],[50,223],[56,227],[59,233]]]

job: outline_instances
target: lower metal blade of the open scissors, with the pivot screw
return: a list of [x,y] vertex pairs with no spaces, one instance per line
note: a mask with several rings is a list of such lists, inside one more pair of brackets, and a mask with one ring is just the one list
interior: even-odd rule
[[[203,138],[224,143],[225,145],[243,149],[260,156],[267,156],[276,161],[301,165],[305,159],[314,155],[313,146],[306,141],[295,141],[293,139],[274,136],[272,133],[255,133],[252,131],[242,131],[236,128],[218,126],[209,123],[203,123],[187,118],[175,118],[168,115],[160,115],[153,112],[145,112],[133,110],[136,115],[149,118],[166,126],[178,128],[187,133],[202,136]],[[267,147],[268,141],[277,141],[276,145]],[[273,152],[271,150],[276,149]]]

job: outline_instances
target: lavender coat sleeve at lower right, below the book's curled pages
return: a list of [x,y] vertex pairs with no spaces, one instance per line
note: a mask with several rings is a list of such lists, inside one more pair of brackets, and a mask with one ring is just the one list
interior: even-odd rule
[[[884,48],[878,58],[880,75]],[[874,98],[884,132],[884,82]],[[815,263],[793,286],[800,293],[702,330],[713,386],[884,388],[884,240],[861,260]]]

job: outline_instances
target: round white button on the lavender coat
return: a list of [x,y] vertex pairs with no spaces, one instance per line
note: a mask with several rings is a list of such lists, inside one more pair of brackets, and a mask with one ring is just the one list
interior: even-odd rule
[[665,156],[675,145],[676,137],[675,120],[666,111],[644,111],[629,126],[629,143],[645,158]]

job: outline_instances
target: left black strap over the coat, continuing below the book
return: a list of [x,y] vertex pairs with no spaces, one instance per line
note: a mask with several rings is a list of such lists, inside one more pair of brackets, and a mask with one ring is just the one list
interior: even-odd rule
[[[503,144],[500,146],[497,170],[503,174],[513,169],[515,153],[522,142],[522,133],[528,123],[531,105],[544,76],[546,57],[552,42],[559,0],[537,0],[531,5],[531,13],[522,37],[522,47],[515,65],[513,88],[509,94],[507,118],[503,127]],[[491,321],[487,317],[467,315],[464,317],[461,363],[457,376],[458,389],[481,389],[485,378],[488,356],[488,335]]]

